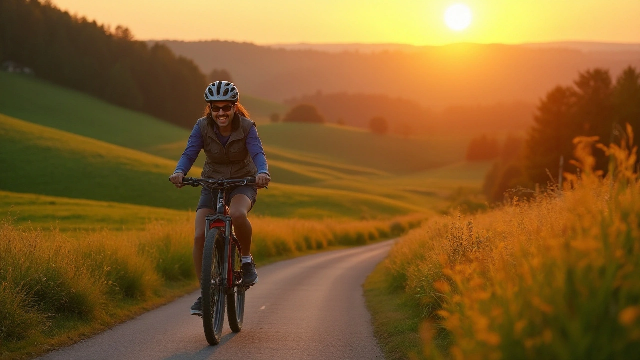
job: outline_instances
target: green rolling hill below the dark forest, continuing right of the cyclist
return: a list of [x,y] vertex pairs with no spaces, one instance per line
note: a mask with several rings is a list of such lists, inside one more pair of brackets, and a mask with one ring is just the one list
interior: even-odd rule
[[[0,72],[0,91],[7,94],[0,97],[0,113],[4,115],[173,161],[180,158],[190,133],[36,78]],[[468,141],[455,135],[404,139],[351,127],[309,124],[259,124],[258,129],[269,160],[275,160],[271,170],[281,174],[280,181],[287,184],[326,179],[318,175],[326,172],[324,168],[372,175],[427,170],[463,159]],[[199,159],[196,165],[202,163]]]

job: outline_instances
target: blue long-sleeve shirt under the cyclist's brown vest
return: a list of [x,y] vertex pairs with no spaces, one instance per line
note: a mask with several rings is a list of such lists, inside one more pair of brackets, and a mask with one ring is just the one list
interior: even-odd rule
[[[222,146],[227,146],[227,142],[231,137],[231,135],[222,136],[218,129],[216,129],[216,136],[218,137],[218,140],[220,140]],[[258,174],[269,174],[267,157],[264,154],[264,148],[262,147],[262,142],[260,141],[258,130],[255,126],[252,126],[249,133],[246,135],[245,145],[255,167],[258,168]],[[182,174],[186,176],[189,170],[191,170],[191,167],[193,167],[193,163],[195,163],[203,148],[204,139],[202,138],[202,131],[200,131],[200,126],[196,124],[196,126],[193,127],[193,131],[191,131],[191,135],[189,135],[187,148],[182,153],[182,157],[180,158],[180,161],[178,161],[178,165],[175,167],[175,172],[173,172],[173,174],[176,172],[182,172]]]

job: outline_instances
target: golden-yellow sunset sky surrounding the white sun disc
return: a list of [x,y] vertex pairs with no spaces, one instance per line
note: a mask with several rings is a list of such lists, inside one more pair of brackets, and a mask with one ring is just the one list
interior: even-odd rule
[[[138,40],[254,44],[640,43],[640,0],[52,0]],[[447,28],[452,4],[473,13]]]

